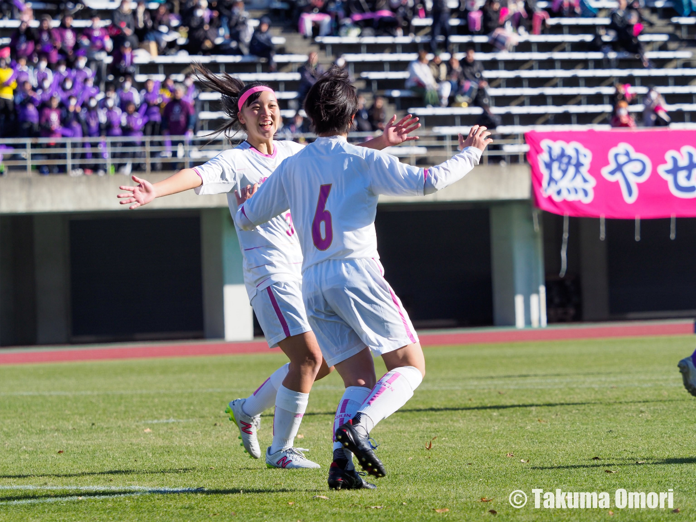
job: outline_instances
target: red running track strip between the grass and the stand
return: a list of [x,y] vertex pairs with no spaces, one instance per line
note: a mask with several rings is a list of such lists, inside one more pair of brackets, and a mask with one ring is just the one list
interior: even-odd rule
[[[471,329],[422,333],[422,346],[480,345],[491,342],[529,342],[572,339],[601,339],[695,333],[693,319],[679,321],[642,321],[603,324],[550,326],[545,329]],[[264,341],[251,342],[177,342],[175,344],[126,345],[118,347],[65,347],[61,349],[0,350],[0,365],[56,363],[65,361],[98,361],[100,359],[132,359],[152,357],[191,357],[267,353]],[[278,351],[278,349],[274,349]]]

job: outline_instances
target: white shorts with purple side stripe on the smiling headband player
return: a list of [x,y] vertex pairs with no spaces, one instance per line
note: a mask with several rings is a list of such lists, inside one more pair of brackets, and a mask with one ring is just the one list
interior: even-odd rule
[[286,337],[311,330],[300,281],[273,283],[251,299],[251,306],[270,348]]

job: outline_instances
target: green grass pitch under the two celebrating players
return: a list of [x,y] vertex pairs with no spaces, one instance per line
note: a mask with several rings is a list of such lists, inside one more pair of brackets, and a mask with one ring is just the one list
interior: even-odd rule
[[[696,398],[677,370],[694,345],[428,348],[416,395],[372,433],[388,473],[377,491],[326,486],[336,374],[315,385],[296,441],[320,470],[267,469],[242,451],[223,410],[285,362],[278,354],[1,367],[0,521],[694,522]],[[607,491],[613,515],[535,509],[533,488]],[[672,488],[680,512],[617,509],[618,488]],[[508,502],[517,489],[530,495],[521,509]]]

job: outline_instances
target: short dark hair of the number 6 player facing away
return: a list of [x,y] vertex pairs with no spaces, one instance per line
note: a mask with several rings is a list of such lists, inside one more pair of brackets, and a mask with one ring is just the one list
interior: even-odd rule
[[332,67],[310,88],[305,112],[318,136],[347,134],[358,112],[358,95],[348,71]]

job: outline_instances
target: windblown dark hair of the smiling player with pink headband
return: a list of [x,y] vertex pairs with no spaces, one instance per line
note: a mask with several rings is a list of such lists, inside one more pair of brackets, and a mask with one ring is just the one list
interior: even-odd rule
[[[224,136],[230,138],[239,131],[246,131],[246,127],[242,125],[242,122],[239,122],[239,116],[237,116],[237,113],[239,113],[239,97],[244,95],[244,93],[251,88],[268,86],[260,81],[251,81],[248,84],[244,84],[244,81],[231,77],[226,72],[222,74],[210,72],[207,68],[203,67],[203,65],[200,65],[200,63],[193,63],[191,67],[193,68],[193,75],[196,81],[198,81],[203,88],[213,90],[222,95],[222,110],[227,118],[226,121],[209,134],[209,136],[224,134]],[[248,107],[251,105],[258,100],[260,95],[261,92],[250,95],[244,102],[244,106]]]

